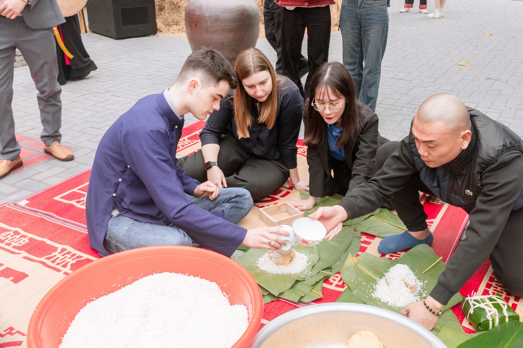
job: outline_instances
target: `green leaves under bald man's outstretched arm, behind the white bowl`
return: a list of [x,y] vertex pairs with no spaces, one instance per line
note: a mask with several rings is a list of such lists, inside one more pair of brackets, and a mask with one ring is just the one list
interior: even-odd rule
[[[301,199],[307,199],[309,193],[300,191]],[[305,210],[304,216],[312,214],[320,207],[331,207],[339,203],[342,198],[338,196],[325,196],[316,200],[316,205],[310,210]],[[394,234],[403,233],[407,227],[400,218],[389,209],[378,208],[376,211],[363,215],[362,217],[348,220],[343,223],[351,226],[357,232],[365,232],[373,236],[385,238]]]

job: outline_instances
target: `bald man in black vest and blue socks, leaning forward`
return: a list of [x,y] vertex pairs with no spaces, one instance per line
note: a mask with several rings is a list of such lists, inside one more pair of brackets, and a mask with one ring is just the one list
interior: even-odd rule
[[[419,107],[410,135],[378,150],[376,170],[338,205],[310,215],[331,231],[327,238],[340,232],[343,221],[390,200],[407,231],[384,238],[380,253],[430,244],[433,237],[419,202],[422,191],[470,215],[465,238],[427,305],[437,313],[487,257],[497,280],[512,295],[523,296],[523,141],[513,131],[453,95],[435,94]],[[438,320],[423,302],[407,305],[402,313],[429,330]]]

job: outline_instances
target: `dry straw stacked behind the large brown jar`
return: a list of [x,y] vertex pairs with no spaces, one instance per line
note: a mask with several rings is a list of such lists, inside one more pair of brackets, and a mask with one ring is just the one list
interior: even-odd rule
[[[254,0],[260,9],[260,38],[265,38],[265,26],[263,21],[264,0]],[[185,7],[189,0],[155,0],[156,23],[158,33],[163,35],[185,36]],[[331,30],[338,30],[339,10],[342,0],[335,0],[331,5]]]

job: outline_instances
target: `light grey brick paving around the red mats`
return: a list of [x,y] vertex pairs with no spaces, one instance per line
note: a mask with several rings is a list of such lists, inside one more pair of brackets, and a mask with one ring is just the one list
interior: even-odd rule
[[[376,110],[381,133],[391,140],[403,138],[417,106],[430,94],[449,92],[523,135],[523,2],[450,0],[442,19],[426,18],[417,8],[401,14],[402,7],[401,0],[393,0],[389,8]],[[83,38],[98,70],[85,80],[67,83],[62,92],[63,143],[73,148],[76,159],[49,159],[8,175],[0,181],[0,203],[24,198],[89,168],[112,122],[139,98],[172,85],[190,53],[187,40],[175,37],[117,41],[87,33]],[[265,39],[258,40],[258,48],[275,61]],[[332,34],[329,54],[331,60],[342,60],[339,32]],[[457,66],[459,62],[471,66]],[[15,69],[14,92],[16,132],[39,138],[36,90],[27,66]],[[186,124],[194,121],[187,117]]]

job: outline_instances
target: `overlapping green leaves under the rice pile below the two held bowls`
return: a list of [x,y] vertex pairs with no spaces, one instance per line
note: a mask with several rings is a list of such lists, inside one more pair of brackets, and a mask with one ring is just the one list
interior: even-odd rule
[[271,274],[260,270],[257,261],[267,249],[249,249],[241,245],[232,258],[249,271],[258,283],[264,303],[283,298],[294,303],[309,303],[322,297],[323,281],[342,269],[349,254],[358,253],[361,234],[344,226],[332,241],[316,246],[298,245],[294,250],[308,257],[308,264],[298,274]]

